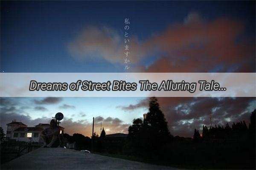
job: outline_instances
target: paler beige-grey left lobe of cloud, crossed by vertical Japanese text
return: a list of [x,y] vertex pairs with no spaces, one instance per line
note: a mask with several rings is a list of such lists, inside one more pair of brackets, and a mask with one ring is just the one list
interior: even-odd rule
[[[88,26],[69,43],[70,54],[76,59],[105,59],[111,63],[124,62],[124,37],[121,32],[109,27]],[[129,38],[129,59],[137,63],[143,57],[136,37]]]

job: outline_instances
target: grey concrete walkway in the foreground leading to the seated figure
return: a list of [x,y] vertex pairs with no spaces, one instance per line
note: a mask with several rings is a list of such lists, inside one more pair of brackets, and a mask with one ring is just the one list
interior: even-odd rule
[[70,169],[70,170],[95,170],[95,169],[175,169],[159,165],[145,164],[128,161],[92,153],[64,148],[39,148],[17,159],[7,162],[1,169]]

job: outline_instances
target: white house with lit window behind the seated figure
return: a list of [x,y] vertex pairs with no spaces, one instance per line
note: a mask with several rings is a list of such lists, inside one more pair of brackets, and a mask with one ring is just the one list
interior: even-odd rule
[[[7,140],[23,141],[23,142],[43,142],[40,138],[41,131],[50,126],[50,124],[39,123],[35,127],[27,127],[27,125],[22,122],[16,122],[13,120],[7,125]],[[64,132],[64,127],[60,126],[60,133]]]

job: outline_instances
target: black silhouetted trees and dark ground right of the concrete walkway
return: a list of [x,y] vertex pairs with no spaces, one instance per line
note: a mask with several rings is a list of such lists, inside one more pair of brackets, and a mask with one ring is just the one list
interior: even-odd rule
[[144,119],[134,119],[128,137],[111,139],[102,130],[91,138],[75,133],[67,141],[76,142],[75,149],[133,157],[133,160],[155,164],[204,169],[255,168],[255,113],[250,124],[244,121],[224,126],[203,126],[200,134],[195,129],[193,139],[175,136],[168,130],[157,98],[152,97]]

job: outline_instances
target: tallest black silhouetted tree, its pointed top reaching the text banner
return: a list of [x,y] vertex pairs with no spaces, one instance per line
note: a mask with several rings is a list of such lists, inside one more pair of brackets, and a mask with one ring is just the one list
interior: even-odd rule
[[128,131],[134,153],[144,156],[157,154],[172,137],[156,97],[150,98],[149,109],[144,122],[142,119],[134,119],[133,125],[129,127]]

